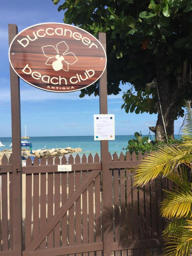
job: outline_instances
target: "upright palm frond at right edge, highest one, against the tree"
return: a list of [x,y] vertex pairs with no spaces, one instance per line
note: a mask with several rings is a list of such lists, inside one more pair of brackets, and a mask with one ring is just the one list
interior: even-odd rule
[[184,139],[192,139],[192,109],[191,109],[192,101],[186,102],[186,113],[185,118],[183,120],[183,124],[181,126],[181,131],[183,133],[182,138]]

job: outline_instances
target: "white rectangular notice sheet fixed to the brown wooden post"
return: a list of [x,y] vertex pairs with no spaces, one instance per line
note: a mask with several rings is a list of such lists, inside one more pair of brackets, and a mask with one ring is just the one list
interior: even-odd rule
[[94,115],[94,140],[115,139],[115,115]]

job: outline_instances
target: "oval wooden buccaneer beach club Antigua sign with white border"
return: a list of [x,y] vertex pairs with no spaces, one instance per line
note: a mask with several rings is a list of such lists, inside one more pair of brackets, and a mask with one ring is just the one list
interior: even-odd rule
[[101,43],[87,31],[42,23],[18,33],[9,47],[12,68],[25,82],[52,92],[72,92],[97,81],[106,68]]

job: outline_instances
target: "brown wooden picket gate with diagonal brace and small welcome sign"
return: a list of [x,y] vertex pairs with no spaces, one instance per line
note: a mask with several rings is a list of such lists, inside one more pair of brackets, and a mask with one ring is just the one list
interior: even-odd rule
[[[25,250],[23,255],[68,255],[96,251],[101,255],[99,156],[69,157],[72,172],[57,172],[59,157],[38,158],[23,167],[26,175]],[[66,164],[66,158],[61,160]],[[33,201],[33,202],[32,202]],[[47,207],[46,207],[47,206]],[[86,255],[86,254],[85,254]]]

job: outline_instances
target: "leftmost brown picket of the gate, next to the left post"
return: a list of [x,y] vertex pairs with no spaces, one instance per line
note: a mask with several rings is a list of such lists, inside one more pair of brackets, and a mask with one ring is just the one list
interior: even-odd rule
[[[28,158],[30,159],[30,158]],[[29,161],[26,164],[30,164]],[[26,199],[25,199],[25,247],[31,243],[32,222],[32,174],[26,175]]]

